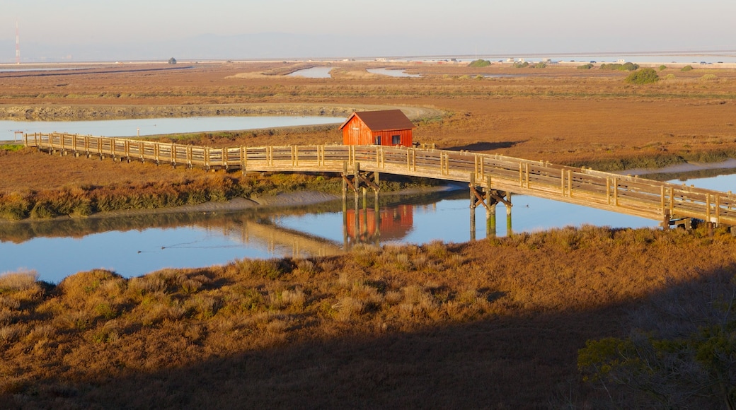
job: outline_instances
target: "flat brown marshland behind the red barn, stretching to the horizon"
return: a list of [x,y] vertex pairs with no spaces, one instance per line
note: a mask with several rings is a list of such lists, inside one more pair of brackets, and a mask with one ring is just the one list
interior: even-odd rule
[[[489,68],[405,65],[409,71],[427,74],[420,79],[363,75],[338,75],[333,79],[283,75],[257,79],[232,77],[242,72],[280,72],[291,66],[280,62],[197,65],[189,70],[153,71],[143,75],[135,72],[78,75],[73,76],[74,82],[64,76],[7,76],[3,78],[0,102],[31,104],[30,107],[49,112],[53,112],[53,104],[65,107],[92,104],[99,107],[99,112],[114,111],[127,104],[139,107],[279,103],[434,107],[450,115],[419,121],[415,130],[419,141],[438,143],[442,148],[575,164],[640,157],[698,159],[701,153],[711,153],[710,158],[715,159],[732,154],[736,148],[732,118],[736,71],[729,69],[698,69],[688,73],[667,69],[662,76],[672,74],[673,78],[646,86],[626,84],[623,82],[626,73],[618,71],[565,67],[516,69],[498,65]],[[377,65],[340,63],[333,65],[333,72],[364,72],[369,66]],[[475,74],[514,76],[475,79]],[[709,74],[716,79],[704,81],[704,76]],[[269,145],[334,140],[331,132],[305,132],[276,138],[267,133],[244,135],[232,142]],[[651,161],[653,165],[657,163]]]

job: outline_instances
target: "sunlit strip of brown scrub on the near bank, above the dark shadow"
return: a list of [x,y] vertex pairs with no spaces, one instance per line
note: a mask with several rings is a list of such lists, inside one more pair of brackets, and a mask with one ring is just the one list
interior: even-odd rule
[[[543,385],[526,386],[526,367],[509,368],[500,357],[488,364],[506,367],[534,397],[548,397],[552,380],[575,377],[574,356],[585,339],[619,334],[609,306],[634,303],[691,270],[733,266],[735,258],[736,240],[725,231],[708,237],[584,226],[464,245],[365,245],[345,256],[243,259],[137,278],[92,270],[57,285],[36,281],[32,272],[10,273],[0,277],[0,397],[74,406],[87,400],[82,392],[110,398],[116,378],[244,352],[451,326],[504,328],[508,320],[553,314],[561,316],[549,326],[567,329],[576,324],[565,323],[565,315],[590,315],[584,328],[592,333],[528,353],[535,355],[528,360],[551,365],[551,373],[539,374]],[[529,340],[551,335],[525,332]],[[219,377],[227,383],[227,372]]]

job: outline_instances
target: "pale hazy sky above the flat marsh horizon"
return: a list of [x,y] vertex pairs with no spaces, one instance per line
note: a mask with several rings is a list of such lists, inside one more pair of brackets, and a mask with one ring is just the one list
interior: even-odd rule
[[[0,0],[0,62],[736,49],[732,0]],[[168,57],[167,57],[168,56]]]

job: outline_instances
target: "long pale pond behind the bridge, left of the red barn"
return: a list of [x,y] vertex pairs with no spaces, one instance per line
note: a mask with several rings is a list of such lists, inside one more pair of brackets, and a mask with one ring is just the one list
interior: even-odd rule
[[0,121],[0,140],[13,140],[15,131],[68,132],[69,134],[102,137],[135,137],[136,135],[180,134],[272,128],[277,126],[305,126],[342,123],[342,117],[322,116],[254,116],[254,117],[191,117],[141,118],[107,121]]

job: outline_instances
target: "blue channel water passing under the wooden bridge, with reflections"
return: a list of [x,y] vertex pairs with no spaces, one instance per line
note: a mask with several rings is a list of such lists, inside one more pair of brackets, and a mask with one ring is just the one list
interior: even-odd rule
[[[736,174],[690,179],[687,184],[734,190]],[[464,189],[391,200],[380,206],[379,217],[370,199],[371,195],[367,209],[359,204],[357,214],[351,199],[345,214],[337,203],[275,213],[247,210],[0,224],[0,273],[26,268],[37,270],[44,280],[60,281],[80,270],[104,267],[138,276],[165,267],[221,265],[241,258],[333,254],[357,242],[421,244],[467,242],[472,237]],[[524,195],[514,195],[512,202],[514,232],[583,224],[658,226],[655,220]],[[475,215],[475,239],[482,239],[489,234],[485,209],[479,207]],[[496,225],[496,235],[509,233],[501,205]]]

